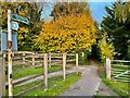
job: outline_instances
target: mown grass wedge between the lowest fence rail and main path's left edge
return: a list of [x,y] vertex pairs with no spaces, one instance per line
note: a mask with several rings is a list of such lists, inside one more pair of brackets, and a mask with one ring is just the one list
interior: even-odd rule
[[49,79],[48,91],[43,91],[43,87],[39,87],[36,90],[27,93],[25,96],[56,96],[64,93],[65,89],[69,88],[69,86],[79,78],[80,75],[77,75],[76,73],[67,75],[65,82],[63,82],[62,76],[53,77]]

